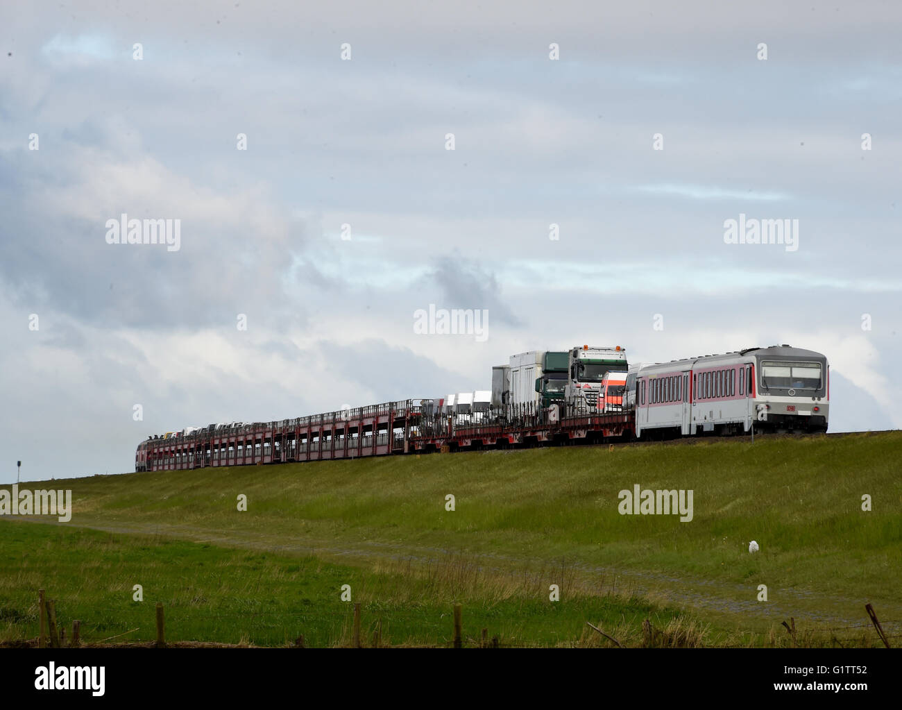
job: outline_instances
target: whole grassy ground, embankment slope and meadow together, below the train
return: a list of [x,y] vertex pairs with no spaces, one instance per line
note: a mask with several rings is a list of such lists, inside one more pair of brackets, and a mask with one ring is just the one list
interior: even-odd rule
[[[470,635],[488,626],[522,644],[608,643],[585,636],[586,621],[639,643],[641,620],[655,614],[657,628],[689,630],[675,643],[783,643],[778,624],[794,616],[813,644],[867,644],[867,602],[891,633],[902,628],[900,454],[902,433],[889,432],[55,481],[73,492],[69,523],[0,519],[0,638],[32,633],[41,586],[74,596],[86,620],[106,610],[106,628],[140,615],[149,635],[129,638],[152,638],[152,604],[131,601],[143,584],[146,599],[181,615],[180,638],[282,643],[293,632],[275,617],[268,631],[223,621],[269,609],[334,644],[346,641],[350,605],[339,590],[349,584],[398,643],[446,641],[450,605],[461,601]],[[693,520],[621,515],[618,493],[635,484],[692,490]],[[95,571],[79,576],[85,568]],[[560,602],[548,601],[552,584]]]

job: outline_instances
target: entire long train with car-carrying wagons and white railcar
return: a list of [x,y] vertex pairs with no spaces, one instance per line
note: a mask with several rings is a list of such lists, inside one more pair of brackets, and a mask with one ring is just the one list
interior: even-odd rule
[[[649,440],[755,431],[825,433],[829,423],[827,358],[788,345],[696,355],[667,363],[629,364],[611,348],[597,366],[581,367],[583,350],[569,352],[566,396],[548,399],[547,374],[534,392],[511,399],[491,391],[383,402],[268,422],[220,422],[152,435],[135,451],[135,471],[248,466],[549,443]],[[538,351],[536,351],[538,353]],[[595,351],[600,352],[600,351]],[[553,352],[564,355],[564,351]],[[548,363],[523,354],[518,363]],[[531,376],[532,373],[530,373]],[[556,374],[556,377],[561,375]],[[581,378],[581,379],[580,379]],[[510,382],[510,379],[508,380]],[[578,388],[574,383],[580,385]],[[597,383],[597,384],[594,384]],[[583,387],[583,385],[586,385]],[[557,387],[557,392],[560,392]],[[586,396],[584,389],[590,393]]]

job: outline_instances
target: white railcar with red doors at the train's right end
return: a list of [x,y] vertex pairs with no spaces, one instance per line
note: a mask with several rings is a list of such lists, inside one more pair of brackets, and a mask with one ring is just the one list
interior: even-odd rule
[[646,364],[636,373],[636,437],[756,429],[825,432],[827,358],[791,346],[754,347]]

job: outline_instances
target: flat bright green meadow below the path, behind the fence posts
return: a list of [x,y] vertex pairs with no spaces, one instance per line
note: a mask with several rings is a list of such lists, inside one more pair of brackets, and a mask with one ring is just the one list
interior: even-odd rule
[[[586,620],[619,629],[628,641],[625,627],[634,632],[645,618],[688,631],[693,642],[702,638],[676,609],[610,595],[565,595],[552,604],[543,580],[486,576],[460,560],[423,575],[403,567],[367,572],[309,557],[7,522],[0,565],[15,570],[0,577],[4,641],[38,635],[40,587],[56,600],[61,628],[82,622],[85,643],[153,641],[159,601],[170,641],[281,646],[303,634],[308,646],[347,645],[353,604],[341,601],[344,585],[362,604],[365,645],[377,622],[384,645],[449,645],[455,603],[465,608],[470,645],[483,628],[506,645],[599,643],[586,634]],[[133,600],[134,585],[143,586],[143,601]]]

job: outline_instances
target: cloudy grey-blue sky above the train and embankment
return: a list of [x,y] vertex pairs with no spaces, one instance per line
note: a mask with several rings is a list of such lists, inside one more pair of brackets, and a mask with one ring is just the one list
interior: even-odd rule
[[[816,350],[832,431],[897,429],[900,33],[892,2],[4,2],[0,483],[584,344]],[[122,215],[178,249],[110,244]]]

